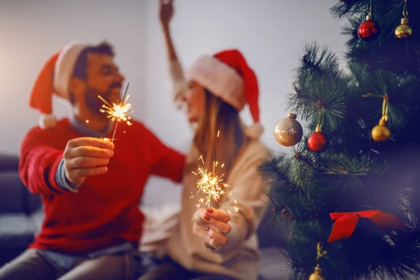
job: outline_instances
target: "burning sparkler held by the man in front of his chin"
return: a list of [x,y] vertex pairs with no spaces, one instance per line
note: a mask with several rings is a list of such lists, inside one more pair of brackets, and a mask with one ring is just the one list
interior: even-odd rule
[[[128,116],[130,109],[132,108],[132,104],[127,103],[128,98],[130,95],[127,95],[128,87],[130,86],[130,83],[127,84],[127,87],[125,88],[125,93],[123,97],[123,102],[120,102],[120,104],[113,103],[112,105],[109,104],[102,96],[98,95],[99,99],[101,99],[104,104],[102,105],[102,109],[99,109],[102,113],[107,113],[108,118],[111,119],[111,121],[117,121],[116,127],[114,128],[113,136],[112,136],[112,142],[114,141],[114,138],[116,137],[117,127],[118,123],[125,122],[127,125],[132,125],[130,122],[130,116]],[[126,97],[127,96],[127,97]]]

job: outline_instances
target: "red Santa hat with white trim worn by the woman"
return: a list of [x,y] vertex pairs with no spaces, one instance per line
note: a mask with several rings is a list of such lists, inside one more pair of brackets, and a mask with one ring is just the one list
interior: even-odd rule
[[213,57],[203,55],[186,74],[189,80],[197,81],[239,111],[248,104],[254,123],[246,127],[245,134],[249,137],[262,134],[258,80],[239,50],[224,50]]

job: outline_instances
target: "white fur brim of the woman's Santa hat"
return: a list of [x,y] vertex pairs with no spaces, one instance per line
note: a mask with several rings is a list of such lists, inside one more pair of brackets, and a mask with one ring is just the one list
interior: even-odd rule
[[188,80],[195,80],[212,94],[241,111],[246,104],[244,81],[227,64],[209,55],[203,55],[188,69]]

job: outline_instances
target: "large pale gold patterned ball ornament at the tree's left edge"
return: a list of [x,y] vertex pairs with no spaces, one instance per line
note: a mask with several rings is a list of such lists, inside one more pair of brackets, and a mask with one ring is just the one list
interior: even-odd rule
[[290,147],[302,139],[302,125],[296,120],[296,115],[288,113],[287,118],[282,118],[274,127],[274,139],[280,145]]

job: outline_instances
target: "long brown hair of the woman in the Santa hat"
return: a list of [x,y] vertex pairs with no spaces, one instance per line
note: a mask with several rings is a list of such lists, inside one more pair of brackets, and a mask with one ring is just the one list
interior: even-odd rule
[[224,164],[223,171],[220,172],[227,176],[240,148],[246,144],[248,138],[244,134],[244,125],[237,109],[208,90],[204,90],[204,95],[204,112],[195,130],[194,144],[204,155],[207,167],[213,164],[216,152],[218,167]]

